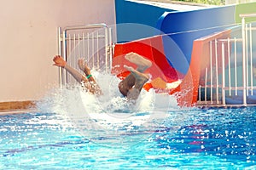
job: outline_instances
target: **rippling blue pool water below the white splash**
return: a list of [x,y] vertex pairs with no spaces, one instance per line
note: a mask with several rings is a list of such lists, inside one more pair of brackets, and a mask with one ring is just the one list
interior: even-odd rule
[[0,116],[0,169],[255,169],[255,112],[176,109],[147,126],[119,127],[94,117],[112,126],[104,132],[56,113]]

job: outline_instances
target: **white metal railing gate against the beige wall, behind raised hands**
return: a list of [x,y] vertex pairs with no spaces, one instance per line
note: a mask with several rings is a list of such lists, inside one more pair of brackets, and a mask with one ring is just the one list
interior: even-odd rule
[[[59,27],[59,54],[68,65],[78,69],[77,61],[84,58],[90,69],[111,71],[112,29],[105,24]],[[78,69],[79,70],[79,69]],[[60,85],[75,82],[67,71],[60,68]]]

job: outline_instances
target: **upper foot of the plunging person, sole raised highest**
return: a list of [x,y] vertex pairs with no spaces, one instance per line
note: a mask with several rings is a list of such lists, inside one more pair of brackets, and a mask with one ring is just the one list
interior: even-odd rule
[[133,52],[126,54],[125,59],[137,65],[137,71],[140,72],[144,72],[152,65],[152,62],[150,60],[145,59],[143,56]]

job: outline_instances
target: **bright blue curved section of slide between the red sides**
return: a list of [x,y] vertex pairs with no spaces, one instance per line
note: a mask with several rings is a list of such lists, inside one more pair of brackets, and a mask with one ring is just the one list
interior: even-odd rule
[[163,41],[170,65],[186,74],[194,40],[233,26],[235,9],[236,6],[226,6],[162,14],[157,28],[168,35],[163,37]]

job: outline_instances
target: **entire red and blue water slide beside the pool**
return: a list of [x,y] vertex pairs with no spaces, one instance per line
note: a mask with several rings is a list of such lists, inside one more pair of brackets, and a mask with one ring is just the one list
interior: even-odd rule
[[[116,44],[113,73],[125,77],[128,72],[122,65],[129,63],[124,55],[129,52],[141,54],[154,64],[148,69],[151,80],[166,84],[178,82],[177,86],[168,88],[167,93],[177,95],[181,106],[195,105],[201,72],[208,65],[207,52],[204,51],[207,42],[216,37],[230,37],[230,29],[239,22],[237,15],[254,11],[252,6],[255,5],[165,12],[157,22],[156,28],[161,31],[159,36]],[[154,88],[154,84],[149,83],[145,88]]]

